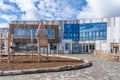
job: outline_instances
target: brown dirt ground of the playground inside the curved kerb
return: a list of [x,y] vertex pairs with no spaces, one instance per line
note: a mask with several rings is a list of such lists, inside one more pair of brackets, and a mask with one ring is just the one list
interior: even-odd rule
[[48,67],[57,67],[64,65],[75,65],[82,64],[83,61],[70,59],[70,58],[61,58],[61,57],[41,57],[41,61],[37,62],[37,56],[14,56],[14,60],[11,63],[3,61],[0,63],[0,70],[21,70],[21,69],[34,69],[34,68],[48,68]]

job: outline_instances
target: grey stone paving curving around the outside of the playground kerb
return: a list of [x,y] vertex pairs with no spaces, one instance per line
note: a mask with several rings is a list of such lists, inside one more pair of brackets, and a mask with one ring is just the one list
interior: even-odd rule
[[91,54],[65,54],[64,56],[88,59],[93,65],[71,71],[1,76],[0,80],[120,80],[120,62],[102,60]]

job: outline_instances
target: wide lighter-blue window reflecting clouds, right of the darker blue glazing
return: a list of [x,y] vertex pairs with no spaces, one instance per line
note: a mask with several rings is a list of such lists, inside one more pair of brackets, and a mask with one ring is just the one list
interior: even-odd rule
[[79,40],[106,40],[107,23],[85,23],[79,25]]

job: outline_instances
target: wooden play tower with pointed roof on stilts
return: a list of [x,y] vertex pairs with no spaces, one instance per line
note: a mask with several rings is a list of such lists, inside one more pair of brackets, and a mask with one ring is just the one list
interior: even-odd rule
[[48,34],[42,23],[39,23],[39,27],[36,33],[37,43],[38,43],[38,62],[40,62],[40,57],[44,57],[41,55],[41,49],[46,49],[47,57],[44,57],[46,60],[48,58]]

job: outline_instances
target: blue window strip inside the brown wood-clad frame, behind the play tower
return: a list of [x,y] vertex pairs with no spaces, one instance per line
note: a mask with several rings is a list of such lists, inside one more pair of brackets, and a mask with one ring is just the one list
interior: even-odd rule
[[[14,37],[18,39],[36,39],[36,28],[14,28]],[[54,29],[47,29],[48,39],[55,39]]]

